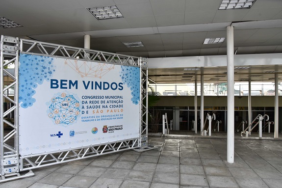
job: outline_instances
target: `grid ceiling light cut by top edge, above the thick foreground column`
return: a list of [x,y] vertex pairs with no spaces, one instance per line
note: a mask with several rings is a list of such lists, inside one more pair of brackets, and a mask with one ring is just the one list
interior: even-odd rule
[[218,10],[251,8],[256,0],[222,0]]

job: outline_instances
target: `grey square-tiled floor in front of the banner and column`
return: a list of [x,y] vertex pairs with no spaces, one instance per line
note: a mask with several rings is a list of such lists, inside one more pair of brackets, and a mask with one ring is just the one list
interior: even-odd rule
[[0,188],[282,188],[282,141],[235,140],[234,163],[226,161],[226,139],[151,137],[150,144],[160,147],[35,169]]

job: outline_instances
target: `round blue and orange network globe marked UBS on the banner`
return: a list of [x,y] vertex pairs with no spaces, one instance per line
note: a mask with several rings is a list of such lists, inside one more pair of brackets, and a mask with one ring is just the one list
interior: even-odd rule
[[51,99],[48,116],[56,123],[68,125],[75,122],[80,113],[79,102],[73,95],[62,93]]

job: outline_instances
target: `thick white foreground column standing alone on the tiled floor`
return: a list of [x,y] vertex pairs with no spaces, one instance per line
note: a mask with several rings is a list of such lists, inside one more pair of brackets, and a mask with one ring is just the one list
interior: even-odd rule
[[234,162],[234,36],[227,27],[227,161]]

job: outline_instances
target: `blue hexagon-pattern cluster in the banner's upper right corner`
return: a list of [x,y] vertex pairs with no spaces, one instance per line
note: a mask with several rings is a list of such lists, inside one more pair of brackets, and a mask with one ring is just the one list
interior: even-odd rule
[[140,101],[140,69],[138,67],[122,66],[120,77],[131,90],[132,103],[138,105],[138,101]]

